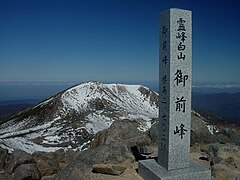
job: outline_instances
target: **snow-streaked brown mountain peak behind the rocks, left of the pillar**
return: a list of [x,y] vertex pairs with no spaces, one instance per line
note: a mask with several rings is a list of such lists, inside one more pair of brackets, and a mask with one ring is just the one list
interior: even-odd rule
[[26,152],[83,150],[113,121],[129,119],[140,130],[158,117],[158,94],[141,85],[87,82],[60,92],[0,126],[0,146]]

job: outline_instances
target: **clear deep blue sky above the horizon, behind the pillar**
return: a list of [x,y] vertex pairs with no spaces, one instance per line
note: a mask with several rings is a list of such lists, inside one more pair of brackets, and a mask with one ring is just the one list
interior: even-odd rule
[[193,13],[193,82],[239,82],[237,0],[0,0],[0,81],[158,81],[172,7]]

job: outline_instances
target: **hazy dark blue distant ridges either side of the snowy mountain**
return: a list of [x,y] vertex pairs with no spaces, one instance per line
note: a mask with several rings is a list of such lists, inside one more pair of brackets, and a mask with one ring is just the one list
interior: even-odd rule
[[[155,84],[155,86],[157,85]],[[155,86],[154,83],[149,84],[150,89],[155,90]],[[40,101],[39,99],[0,101],[0,118],[32,107]],[[240,124],[239,107],[240,93],[201,94],[193,92],[192,94],[192,109],[202,113],[205,112],[204,114],[211,113],[212,116],[215,114],[215,118],[222,118],[223,121]]]

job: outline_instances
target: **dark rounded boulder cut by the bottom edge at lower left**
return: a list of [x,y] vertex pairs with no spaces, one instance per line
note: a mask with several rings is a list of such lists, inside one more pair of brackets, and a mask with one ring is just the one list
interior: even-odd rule
[[19,180],[40,179],[40,173],[36,164],[21,164],[14,171],[13,177]]

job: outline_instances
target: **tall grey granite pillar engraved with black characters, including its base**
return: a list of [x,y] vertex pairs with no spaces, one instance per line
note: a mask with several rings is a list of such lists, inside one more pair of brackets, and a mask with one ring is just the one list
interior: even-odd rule
[[210,170],[190,161],[192,13],[169,9],[160,15],[158,162],[139,162],[144,179],[205,180]]

